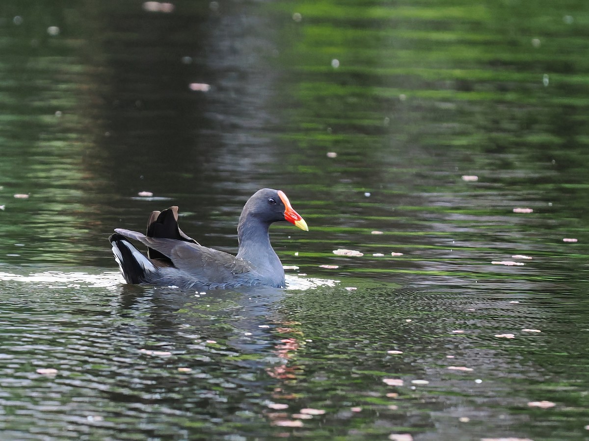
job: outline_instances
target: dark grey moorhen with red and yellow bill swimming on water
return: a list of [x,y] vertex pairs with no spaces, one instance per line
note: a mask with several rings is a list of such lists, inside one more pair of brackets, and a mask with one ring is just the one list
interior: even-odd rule
[[[243,206],[237,225],[237,255],[207,248],[178,226],[178,207],[154,211],[147,233],[115,228],[108,240],[127,283],[178,288],[231,289],[242,286],[284,288],[284,268],[270,244],[269,228],[286,220],[309,231],[281,190],[263,188]],[[147,246],[147,256],[130,242]]]

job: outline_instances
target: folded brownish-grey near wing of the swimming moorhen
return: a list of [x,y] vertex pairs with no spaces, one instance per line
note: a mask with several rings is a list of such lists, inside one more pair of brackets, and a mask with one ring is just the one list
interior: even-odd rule
[[[166,256],[175,268],[206,285],[224,285],[228,282],[239,282],[236,279],[246,280],[247,273],[254,270],[246,260],[198,243],[177,239],[148,238],[136,231],[122,228],[117,228],[115,231],[156,250]],[[240,275],[243,276],[240,278]]]

